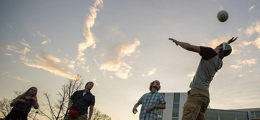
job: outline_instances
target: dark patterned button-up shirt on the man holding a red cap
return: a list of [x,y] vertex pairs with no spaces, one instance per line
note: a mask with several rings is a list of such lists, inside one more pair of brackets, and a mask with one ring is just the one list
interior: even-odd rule
[[88,107],[95,105],[95,96],[90,91],[83,96],[83,92],[84,90],[75,91],[70,97],[73,100],[72,106],[77,107],[79,115],[87,114]]

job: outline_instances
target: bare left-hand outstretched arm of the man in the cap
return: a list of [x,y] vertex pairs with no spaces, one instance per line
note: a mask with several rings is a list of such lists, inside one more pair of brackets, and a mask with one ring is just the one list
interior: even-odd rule
[[192,52],[200,53],[200,47],[199,46],[191,45],[189,43],[180,42],[180,41],[177,41],[177,40],[172,39],[172,38],[169,38],[169,40],[174,42],[176,45],[181,46],[183,49],[186,49],[186,50],[192,51]]

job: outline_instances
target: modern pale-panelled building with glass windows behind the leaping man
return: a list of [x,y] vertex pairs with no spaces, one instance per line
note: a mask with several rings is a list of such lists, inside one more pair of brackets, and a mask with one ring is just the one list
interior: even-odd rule
[[[187,93],[163,93],[166,109],[159,109],[158,120],[181,120]],[[260,120],[260,108],[218,110],[208,107],[206,120]]]

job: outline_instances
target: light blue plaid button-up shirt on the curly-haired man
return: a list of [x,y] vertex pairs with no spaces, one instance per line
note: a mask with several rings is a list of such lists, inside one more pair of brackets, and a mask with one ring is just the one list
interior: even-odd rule
[[158,109],[153,108],[150,113],[147,113],[147,109],[153,105],[161,105],[166,103],[162,93],[155,91],[154,93],[149,92],[143,95],[138,104],[142,104],[139,120],[154,120],[158,119]]

